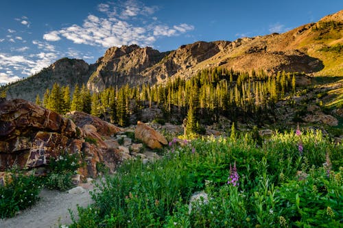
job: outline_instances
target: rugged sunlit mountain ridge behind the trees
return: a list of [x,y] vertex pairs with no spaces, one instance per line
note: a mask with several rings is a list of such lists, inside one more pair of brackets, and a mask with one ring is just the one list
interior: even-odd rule
[[[174,51],[159,52],[137,45],[111,47],[95,64],[58,60],[40,73],[0,88],[8,98],[34,100],[54,82],[61,86],[87,84],[93,92],[121,87],[164,83],[169,78],[190,78],[204,68],[222,66],[234,71],[263,69],[303,72],[314,76],[343,76],[343,10],[317,23],[284,34],[239,38],[233,42],[195,42]],[[1,92],[1,91],[0,91]]]

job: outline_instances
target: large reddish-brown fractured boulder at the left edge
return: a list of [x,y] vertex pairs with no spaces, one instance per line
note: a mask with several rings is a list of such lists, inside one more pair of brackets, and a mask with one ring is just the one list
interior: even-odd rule
[[0,100],[0,170],[46,164],[62,149],[73,150],[80,130],[68,118],[29,101]]

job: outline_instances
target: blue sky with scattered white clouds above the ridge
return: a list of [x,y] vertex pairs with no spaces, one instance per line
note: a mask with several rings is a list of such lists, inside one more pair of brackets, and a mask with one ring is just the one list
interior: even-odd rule
[[0,84],[64,57],[94,63],[113,46],[169,51],[198,40],[282,33],[342,6],[342,0],[1,0]]

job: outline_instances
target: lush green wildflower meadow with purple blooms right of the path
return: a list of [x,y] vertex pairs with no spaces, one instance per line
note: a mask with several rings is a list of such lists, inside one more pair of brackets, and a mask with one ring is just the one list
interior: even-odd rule
[[[342,225],[342,144],[320,131],[276,134],[259,147],[235,134],[185,140],[183,147],[172,140],[162,160],[122,164],[69,227]],[[208,203],[189,211],[200,191]]]

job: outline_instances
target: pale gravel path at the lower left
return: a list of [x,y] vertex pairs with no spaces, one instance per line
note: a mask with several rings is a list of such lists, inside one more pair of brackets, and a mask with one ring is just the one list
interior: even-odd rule
[[54,190],[43,189],[40,200],[36,205],[27,210],[23,210],[14,218],[0,220],[0,227],[6,228],[49,228],[58,227],[71,223],[68,209],[77,214],[77,205],[86,207],[93,203],[89,191],[93,189],[93,184],[83,186],[85,192],[69,194]]

